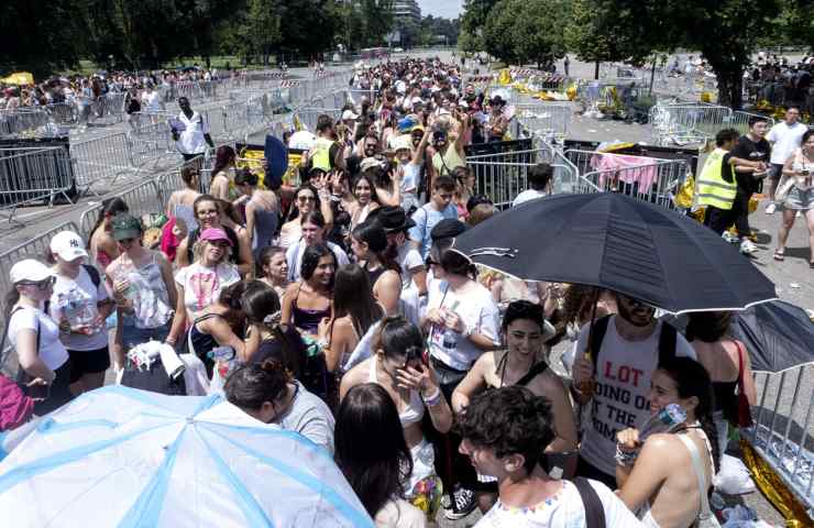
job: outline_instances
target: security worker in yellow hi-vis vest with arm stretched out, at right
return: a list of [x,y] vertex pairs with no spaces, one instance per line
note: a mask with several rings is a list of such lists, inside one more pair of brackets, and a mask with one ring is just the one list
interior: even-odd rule
[[704,224],[718,234],[723,234],[735,222],[733,202],[738,187],[733,166],[762,169],[761,162],[750,162],[729,154],[739,136],[734,129],[724,129],[715,134],[715,150],[706,156],[696,184],[697,205],[706,206]]

